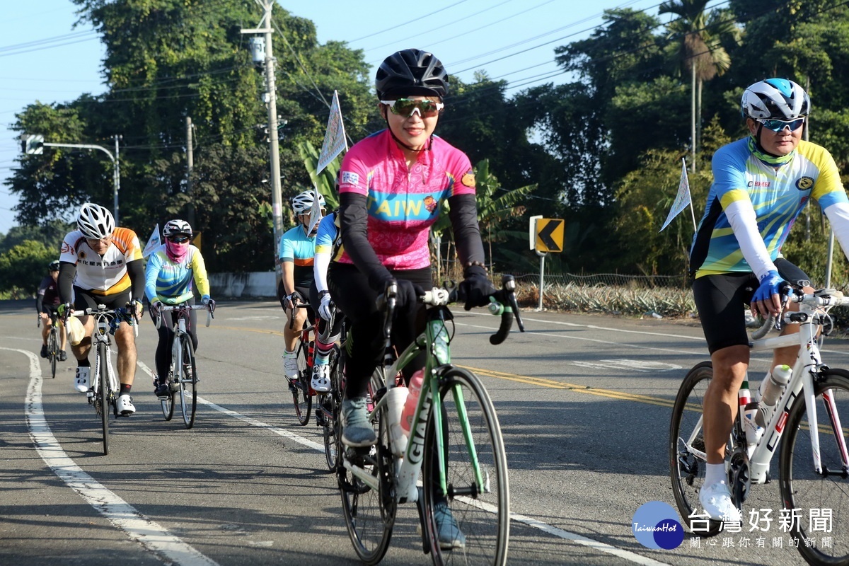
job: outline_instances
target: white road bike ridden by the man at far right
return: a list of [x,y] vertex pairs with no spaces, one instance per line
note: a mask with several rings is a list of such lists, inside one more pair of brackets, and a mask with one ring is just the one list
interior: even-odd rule
[[[770,480],[769,462],[780,441],[779,488],[794,546],[811,564],[849,564],[849,452],[847,431],[841,424],[849,418],[849,371],[824,364],[820,350],[821,330],[832,326],[829,309],[849,305],[849,298],[834,289],[805,294],[801,288],[806,283],[797,282],[790,294],[799,311],[785,311],[779,317],[779,326],[798,324],[799,333],[763,338],[775,326],[774,318],[752,333],[752,352],[793,345],[800,350],[777,403],[757,407],[764,431],[756,444],[747,442],[745,426],[749,425],[744,423],[748,418],[744,413],[756,407],[739,408],[725,451],[727,483],[734,505],[742,511],[752,485]],[[678,512],[689,530],[701,536],[717,535],[725,525],[698,513],[706,466],[702,402],[712,375],[710,361],[689,371],[672,407],[669,434]],[[826,526],[828,532],[822,532]],[[823,536],[818,539],[818,535]]]

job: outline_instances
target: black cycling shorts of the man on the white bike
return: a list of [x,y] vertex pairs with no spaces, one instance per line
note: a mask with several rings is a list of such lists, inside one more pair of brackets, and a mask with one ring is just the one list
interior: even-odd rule
[[[784,258],[776,260],[775,266],[787,281],[809,280],[805,272]],[[749,345],[745,309],[759,284],[751,272],[706,275],[693,282],[693,299],[711,354],[729,346]]]

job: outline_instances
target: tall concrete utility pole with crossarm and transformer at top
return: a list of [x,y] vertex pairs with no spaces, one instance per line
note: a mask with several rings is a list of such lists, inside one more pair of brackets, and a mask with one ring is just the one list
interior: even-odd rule
[[[280,188],[280,154],[279,154],[279,137],[278,137],[278,120],[277,120],[277,90],[274,83],[274,59],[272,48],[272,33],[271,26],[271,9],[274,0],[254,0],[263,10],[262,19],[256,28],[250,30],[242,30],[242,33],[261,33],[265,37],[265,75],[266,75],[266,92],[264,95],[265,102],[268,105],[268,157],[271,161],[271,202],[272,215],[274,221],[274,245],[275,256],[277,255],[277,246],[280,241],[280,236],[283,234],[283,193]],[[277,258],[274,258],[274,265],[277,266],[278,276],[280,275],[280,266]]]

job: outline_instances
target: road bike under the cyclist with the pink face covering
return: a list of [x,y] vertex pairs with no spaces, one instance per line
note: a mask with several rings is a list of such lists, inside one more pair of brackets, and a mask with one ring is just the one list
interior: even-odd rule
[[[162,325],[163,313],[171,312],[173,323],[174,340],[171,345],[171,367],[168,369],[166,383],[171,395],[160,397],[162,415],[166,421],[174,416],[174,406],[177,405],[177,396],[180,398],[180,410],[183,413],[183,423],[187,429],[194,426],[194,413],[198,404],[198,368],[194,358],[194,343],[192,342],[191,311],[206,311],[206,326],[215,315],[215,307],[209,305],[162,305],[159,314],[155,317],[156,328]],[[154,379],[156,382],[157,379]]]

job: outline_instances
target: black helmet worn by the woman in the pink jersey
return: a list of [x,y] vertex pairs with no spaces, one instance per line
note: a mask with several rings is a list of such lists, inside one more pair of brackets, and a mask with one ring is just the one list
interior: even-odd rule
[[433,53],[404,49],[392,53],[380,64],[374,88],[380,100],[417,95],[445,98],[448,74]]

